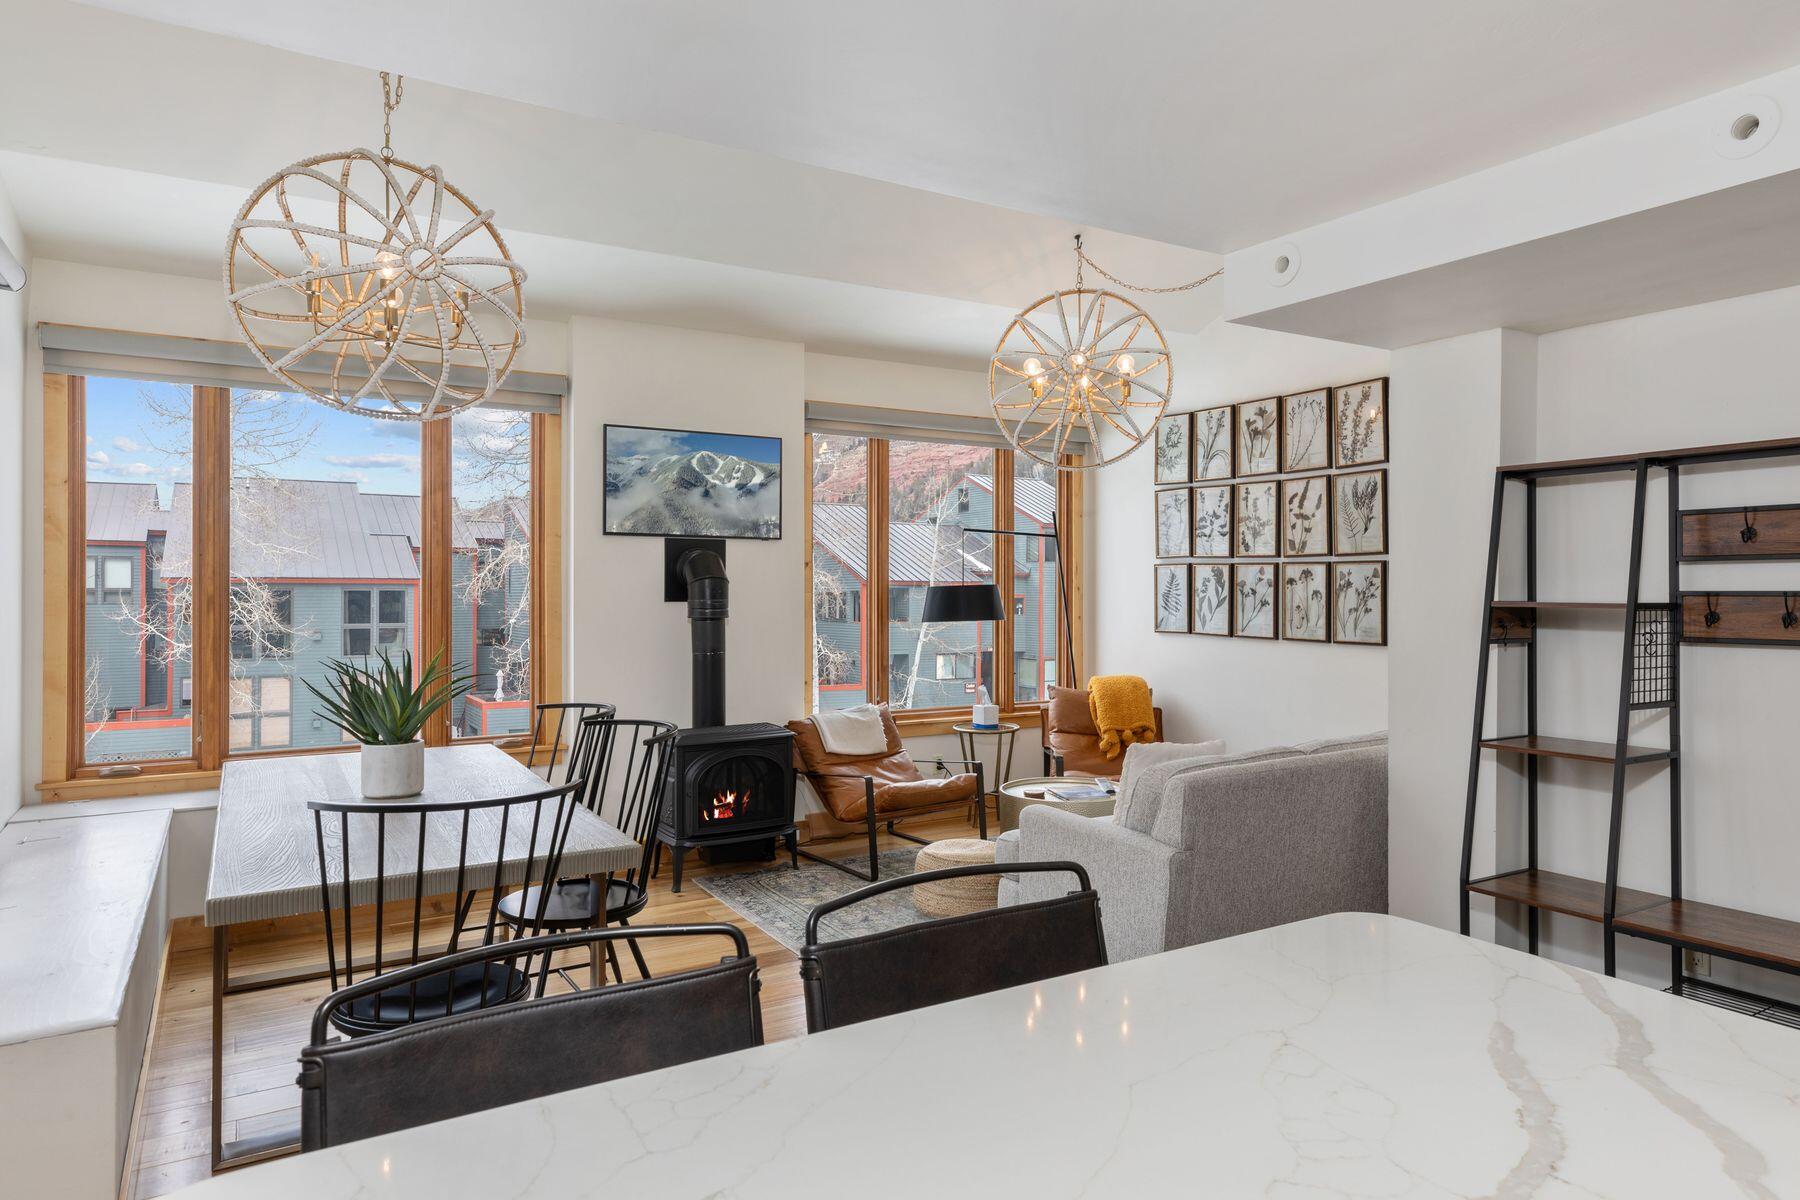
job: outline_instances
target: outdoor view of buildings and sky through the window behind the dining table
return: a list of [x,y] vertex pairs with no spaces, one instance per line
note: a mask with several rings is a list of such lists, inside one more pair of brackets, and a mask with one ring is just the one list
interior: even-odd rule
[[[90,378],[86,390],[86,761],[182,757],[193,389]],[[324,687],[331,660],[419,651],[419,426],[263,390],[232,392],[230,419],[229,748],[340,745],[306,682]],[[452,421],[452,658],[475,675],[452,730],[520,732],[531,423],[488,410]]]

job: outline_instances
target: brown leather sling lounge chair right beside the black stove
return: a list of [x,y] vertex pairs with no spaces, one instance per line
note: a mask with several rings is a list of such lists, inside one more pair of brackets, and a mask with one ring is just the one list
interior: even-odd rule
[[[880,878],[880,858],[875,849],[875,833],[880,824],[886,824],[887,833],[895,837],[929,846],[931,842],[925,838],[895,829],[895,822],[958,808],[967,810],[974,802],[979,813],[981,837],[988,837],[986,808],[976,802],[986,788],[981,777],[981,763],[943,759],[945,775],[941,779],[927,779],[913,763],[913,756],[907,754],[905,745],[900,743],[900,727],[895,725],[887,705],[884,703],[880,709],[882,729],[887,730],[887,748],[880,754],[862,757],[828,752],[824,741],[819,738],[819,727],[812,723],[812,718],[788,721],[788,729],[794,730],[796,768],[812,781],[814,790],[832,817],[844,824],[860,824],[868,829],[869,873],[862,874],[841,862],[806,851],[801,851],[801,855],[869,883]],[[938,761],[936,756],[932,756],[932,761]],[[952,775],[949,774],[950,766],[967,766],[970,770]]]

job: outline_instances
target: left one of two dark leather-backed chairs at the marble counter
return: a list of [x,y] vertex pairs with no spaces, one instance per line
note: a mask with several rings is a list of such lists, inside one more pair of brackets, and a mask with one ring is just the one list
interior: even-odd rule
[[[392,986],[425,988],[445,972],[479,975],[511,961],[547,961],[562,950],[614,943],[623,928],[549,934],[479,946],[394,972]],[[328,1042],[340,1013],[378,995],[382,981],[344,988],[313,1013],[301,1052],[301,1148],[446,1121],[553,1092],[661,1070],[763,1043],[756,959],[733,925],[641,925],[632,937],[727,937],[733,954],[713,966],[617,988],[545,997],[544,972],[531,999]]]

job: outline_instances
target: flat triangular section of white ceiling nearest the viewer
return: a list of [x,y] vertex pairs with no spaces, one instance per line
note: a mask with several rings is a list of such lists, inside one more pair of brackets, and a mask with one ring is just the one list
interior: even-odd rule
[[1213,252],[1800,59],[1793,0],[101,4]]

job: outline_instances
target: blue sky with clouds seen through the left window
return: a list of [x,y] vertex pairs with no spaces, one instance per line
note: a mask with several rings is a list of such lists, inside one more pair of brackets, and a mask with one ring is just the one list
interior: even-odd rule
[[[94,482],[157,484],[162,504],[176,482],[193,480],[193,434],[160,417],[162,410],[185,414],[189,389],[173,383],[142,383],[90,376],[86,381],[86,459]],[[283,479],[328,479],[355,482],[362,491],[419,495],[419,426],[412,421],[376,421],[338,412],[302,396],[281,399],[281,428],[290,443],[270,470]],[[292,405],[292,408],[290,408]],[[455,435],[466,437],[482,423],[508,423],[511,414],[477,412],[457,416]],[[727,439],[745,441],[745,439]],[[459,495],[466,504],[482,497]]]

